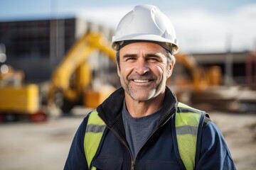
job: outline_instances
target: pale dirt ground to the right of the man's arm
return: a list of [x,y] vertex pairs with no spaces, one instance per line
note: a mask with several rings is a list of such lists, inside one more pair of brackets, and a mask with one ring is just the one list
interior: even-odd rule
[[237,169],[256,167],[256,113],[210,113],[223,132]]

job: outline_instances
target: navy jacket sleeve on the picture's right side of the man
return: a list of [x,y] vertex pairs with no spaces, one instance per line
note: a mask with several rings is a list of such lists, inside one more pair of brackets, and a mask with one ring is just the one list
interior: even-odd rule
[[213,121],[202,133],[201,157],[196,169],[236,169],[224,137]]

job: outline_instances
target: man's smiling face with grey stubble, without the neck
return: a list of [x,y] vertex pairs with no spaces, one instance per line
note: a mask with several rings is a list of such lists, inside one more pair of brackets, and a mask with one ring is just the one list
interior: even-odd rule
[[163,47],[152,42],[134,42],[122,47],[119,55],[117,72],[130,97],[135,101],[147,101],[164,94],[173,64],[167,65]]

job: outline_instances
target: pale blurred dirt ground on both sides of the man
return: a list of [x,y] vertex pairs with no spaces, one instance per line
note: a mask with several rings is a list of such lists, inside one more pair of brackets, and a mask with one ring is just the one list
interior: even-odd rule
[[[0,124],[0,169],[63,169],[84,115],[50,118],[47,123]],[[223,132],[238,169],[256,167],[256,113],[210,113]]]

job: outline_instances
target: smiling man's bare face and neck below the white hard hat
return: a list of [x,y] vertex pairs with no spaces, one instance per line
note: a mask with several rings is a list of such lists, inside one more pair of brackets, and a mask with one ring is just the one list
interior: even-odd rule
[[129,114],[140,118],[159,110],[174,66],[166,50],[153,42],[134,42],[122,47],[119,55],[117,71]]

